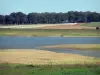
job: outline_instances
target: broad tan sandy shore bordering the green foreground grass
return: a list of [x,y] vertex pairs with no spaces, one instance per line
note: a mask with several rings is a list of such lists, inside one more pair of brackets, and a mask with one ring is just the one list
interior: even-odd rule
[[6,49],[0,50],[0,63],[20,64],[75,64],[94,62],[94,57],[77,54],[63,54],[44,50]]

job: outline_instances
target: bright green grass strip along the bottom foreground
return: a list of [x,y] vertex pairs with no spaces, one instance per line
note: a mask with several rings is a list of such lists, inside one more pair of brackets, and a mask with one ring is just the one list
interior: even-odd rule
[[0,75],[100,75],[100,65],[0,64]]

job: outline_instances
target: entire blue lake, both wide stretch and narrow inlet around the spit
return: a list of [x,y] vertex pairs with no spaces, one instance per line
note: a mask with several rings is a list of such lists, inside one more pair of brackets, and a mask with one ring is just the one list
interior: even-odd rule
[[[100,37],[15,37],[1,36],[0,49],[41,49],[40,46],[58,44],[100,44]],[[100,51],[69,50],[64,48],[44,49],[57,53],[72,53],[100,57]]]

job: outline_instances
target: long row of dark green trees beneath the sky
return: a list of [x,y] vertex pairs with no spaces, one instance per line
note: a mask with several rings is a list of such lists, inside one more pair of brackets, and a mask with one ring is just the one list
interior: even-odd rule
[[0,24],[55,24],[74,22],[99,22],[100,13],[69,11],[67,13],[29,13],[13,12],[0,15]]

